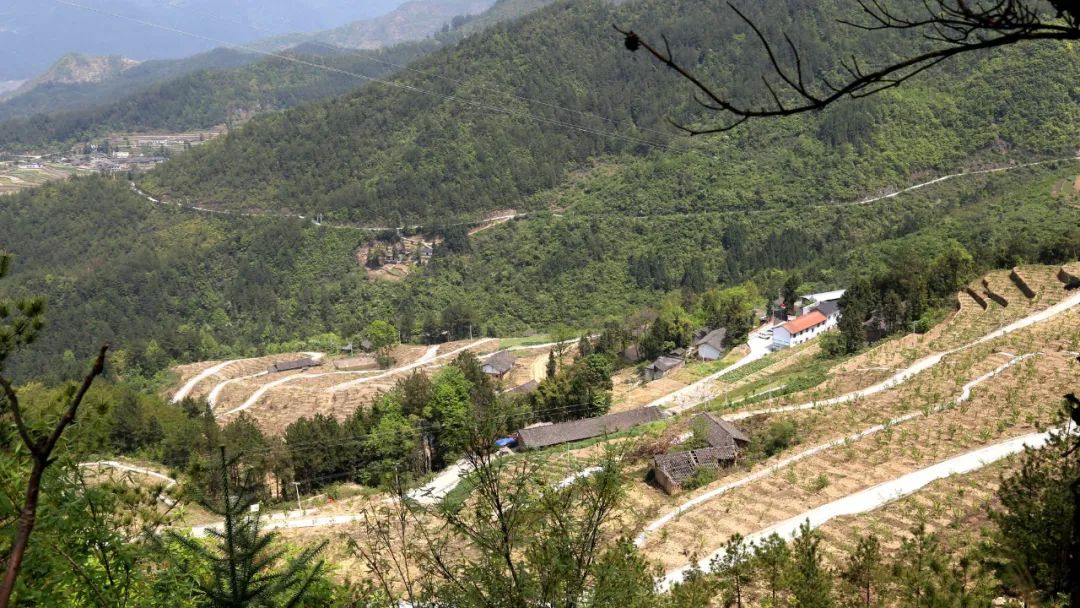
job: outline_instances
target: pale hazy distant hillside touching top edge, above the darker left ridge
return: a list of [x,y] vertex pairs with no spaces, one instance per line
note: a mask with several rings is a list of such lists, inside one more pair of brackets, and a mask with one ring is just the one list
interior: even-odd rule
[[379,17],[310,33],[291,33],[254,43],[256,49],[280,51],[303,43],[332,44],[345,49],[379,49],[438,32],[455,17],[476,15],[494,0],[411,0]]

